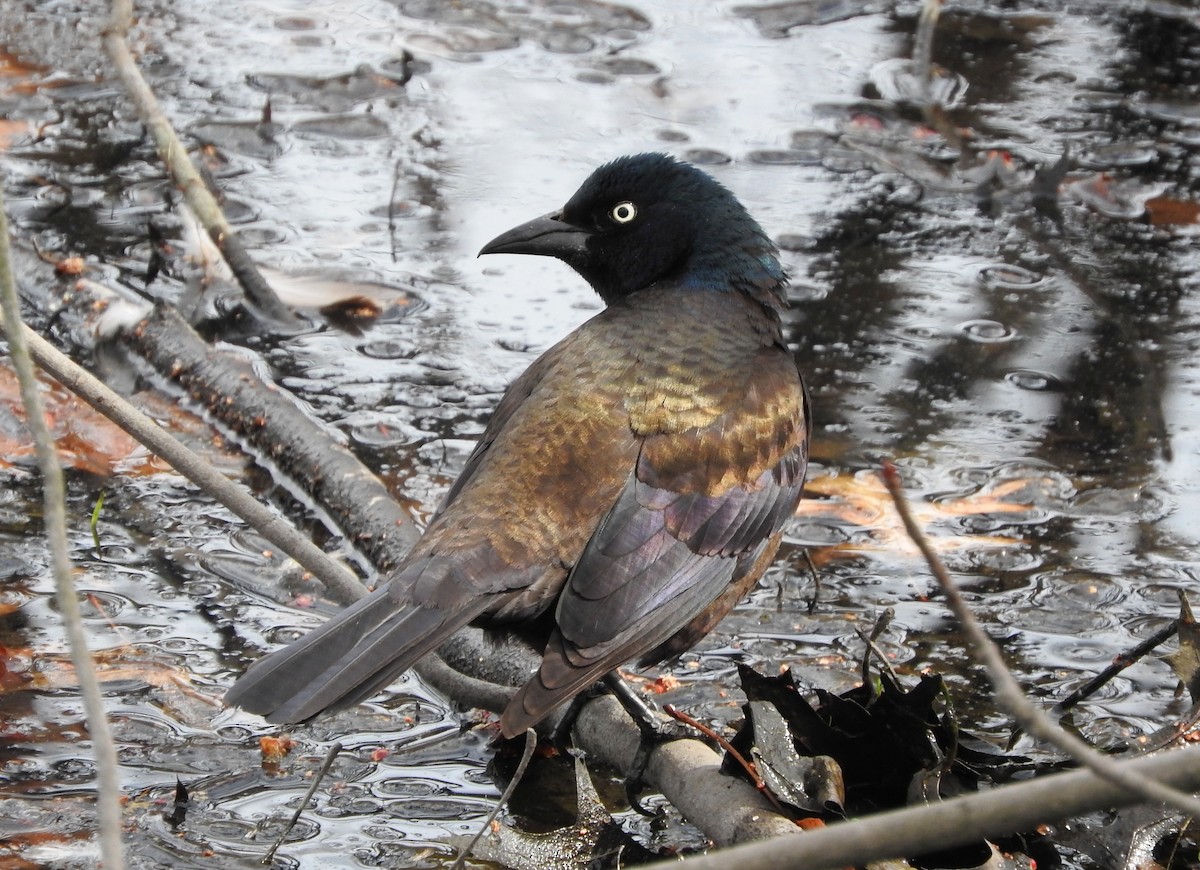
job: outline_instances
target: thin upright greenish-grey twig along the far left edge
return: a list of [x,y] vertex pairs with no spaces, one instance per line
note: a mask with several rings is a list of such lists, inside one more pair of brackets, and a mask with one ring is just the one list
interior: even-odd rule
[[71,661],[79,679],[88,716],[88,733],[96,756],[96,803],[100,812],[100,848],[107,870],[122,870],[125,854],[121,846],[121,779],[116,766],[116,749],[108,727],[104,697],[96,680],[96,670],[88,650],[88,636],[79,614],[79,598],[72,580],[67,545],[66,488],[54,438],[46,425],[46,412],[37,391],[37,377],[26,346],[25,324],[20,319],[20,300],[12,276],[12,254],[8,246],[8,220],[5,217],[4,197],[0,196],[0,307],[4,308],[4,332],[8,340],[12,365],[20,382],[20,398],[25,420],[34,437],[37,464],[42,472],[46,538],[50,550],[54,587],[59,612],[71,647]]

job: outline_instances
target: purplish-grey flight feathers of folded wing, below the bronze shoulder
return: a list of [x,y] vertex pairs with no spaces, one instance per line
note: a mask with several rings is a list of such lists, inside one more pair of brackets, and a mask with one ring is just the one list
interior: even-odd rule
[[[732,607],[799,500],[804,462],[791,454],[805,449],[802,439],[788,461],[720,496],[665,493],[630,475],[568,577],[541,666],[505,709],[504,732],[518,733],[630,659],[673,652],[673,636]],[[722,613],[708,612],[714,602]]]

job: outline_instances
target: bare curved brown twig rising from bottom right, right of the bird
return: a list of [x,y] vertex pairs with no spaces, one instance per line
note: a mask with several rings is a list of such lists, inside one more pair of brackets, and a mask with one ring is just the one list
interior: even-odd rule
[[971,608],[962,600],[958,587],[954,586],[954,581],[950,580],[950,575],[947,572],[946,566],[942,565],[942,560],[934,552],[929,539],[925,538],[924,532],[922,532],[917,521],[913,520],[912,512],[908,510],[908,503],[901,490],[900,474],[890,462],[883,463],[883,482],[888,487],[888,492],[892,493],[892,499],[895,502],[896,511],[899,511],[900,518],[904,521],[908,536],[920,550],[922,556],[925,557],[929,570],[942,587],[942,593],[946,595],[950,610],[962,625],[962,630],[971,642],[971,650],[976,661],[988,671],[988,677],[991,679],[992,688],[996,691],[996,702],[1000,707],[1013,716],[1028,733],[1057,746],[1080,764],[1090,768],[1098,776],[1103,776],[1122,788],[1128,788],[1144,800],[1163,802],[1189,816],[1200,816],[1200,800],[1196,798],[1145,776],[1129,773],[1128,768],[1104,757],[1080,738],[1060,728],[1045,713],[1030,703],[1020,684],[1004,665],[1004,659],[1001,656],[1000,649],[984,632]]

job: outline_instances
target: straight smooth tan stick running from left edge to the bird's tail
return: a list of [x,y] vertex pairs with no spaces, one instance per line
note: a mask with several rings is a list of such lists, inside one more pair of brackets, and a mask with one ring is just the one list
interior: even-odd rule
[[96,377],[72,362],[53,344],[28,326],[23,330],[34,359],[54,379],[84,400],[92,408],[144,444],[176,472],[212,496],[217,502],[245,520],[263,538],[295,559],[301,568],[320,580],[325,587],[346,601],[366,594],[366,587],[346,568],[329,557],[283,517],[254,499],[239,484],[217,472],[210,462],[197,456],[174,436],[158,426]]

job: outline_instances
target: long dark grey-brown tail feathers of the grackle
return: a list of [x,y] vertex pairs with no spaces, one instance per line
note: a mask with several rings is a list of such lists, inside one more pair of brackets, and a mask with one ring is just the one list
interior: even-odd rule
[[302,722],[376,694],[492,604],[437,608],[409,604],[404,578],[379,587],[332,619],[256,661],[226,703],[269,722]]

